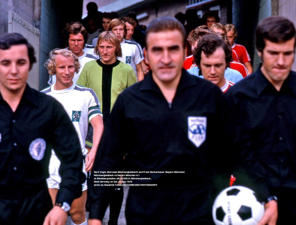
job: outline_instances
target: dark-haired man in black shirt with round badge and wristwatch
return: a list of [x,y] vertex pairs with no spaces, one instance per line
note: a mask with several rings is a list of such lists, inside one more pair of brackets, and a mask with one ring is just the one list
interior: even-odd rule
[[[43,224],[45,217],[45,225],[65,224],[85,181],[79,139],[67,113],[26,83],[35,61],[22,35],[0,37],[0,224]],[[52,147],[62,177],[53,208],[46,187]]]

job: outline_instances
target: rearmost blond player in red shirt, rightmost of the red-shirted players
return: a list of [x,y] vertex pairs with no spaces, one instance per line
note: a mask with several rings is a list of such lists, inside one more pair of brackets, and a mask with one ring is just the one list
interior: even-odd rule
[[232,23],[226,24],[225,28],[227,31],[228,40],[231,42],[232,49],[237,53],[238,62],[243,63],[247,67],[248,72],[252,73],[253,68],[251,65],[251,59],[247,52],[247,49],[240,44],[234,43],[234,39],[237,38],[237,30],[235,29]]

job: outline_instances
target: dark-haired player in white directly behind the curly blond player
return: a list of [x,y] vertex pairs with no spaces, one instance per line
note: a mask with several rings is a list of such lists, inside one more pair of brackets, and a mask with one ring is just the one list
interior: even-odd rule
[[[73,82],[76,83],[84,65],[89,61],[96,60],[97,58],[94,55],[87,54],[83,51],[85,49],[88,34],[86,29],[80,22],[67,23],[62,33],[64,41],[65,43],[67,43],[66,46],[69,47],[69,50],[71,52],[78,56],[78,60],[81,65],[80,70],[77,73],[75,72],[73,77]],[[92,51],[94,51],[94,49]],[[52,85],[55,82],[56,75],[49,75],[48,84]]]

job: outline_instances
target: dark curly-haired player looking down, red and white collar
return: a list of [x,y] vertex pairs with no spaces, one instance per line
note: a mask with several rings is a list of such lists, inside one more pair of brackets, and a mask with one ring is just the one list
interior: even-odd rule
[[204,79],[217,85],[225,93],[234,83],[224,77],[231,61],[231,47],[216,34],[206,34],[200,38],[193,57]]

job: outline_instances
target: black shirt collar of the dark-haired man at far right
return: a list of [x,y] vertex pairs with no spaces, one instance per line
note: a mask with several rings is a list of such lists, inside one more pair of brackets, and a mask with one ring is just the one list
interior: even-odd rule
[[[266,77],[263,75],[262,71],[261,71],[261,66],[262,63],[260,63],[257,71],[256,71],[256,86],[257,86],[257,95],[260,95],[264,89],[266,89],[266,87],[268,85],[272,84],[266,79]],[[296,96],[296,77],[295,77],[295,73],[292,73],[292,71],[290,71],[287,79],[284,81],[283,86],[288,86],[291,91],[294,93],[294,95]]]

